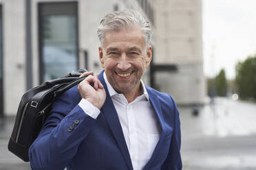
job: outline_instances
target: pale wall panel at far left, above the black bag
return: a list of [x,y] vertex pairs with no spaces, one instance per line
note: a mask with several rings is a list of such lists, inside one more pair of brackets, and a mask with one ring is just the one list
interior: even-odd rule
[[3,8],[3,102],[14,114],[25,91],[25,1],[1,0]]

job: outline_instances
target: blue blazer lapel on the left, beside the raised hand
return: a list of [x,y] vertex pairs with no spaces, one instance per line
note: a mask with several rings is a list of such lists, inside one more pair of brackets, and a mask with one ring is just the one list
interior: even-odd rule
[[127,166],[129,167],[129,169],[133,169],[131,164],[131,158],[129,156],[129,150],[125,142],[125,136],[122,133],[122,126],[120,125],[116,108],[114,107],[112,99],[107,90],[107,84],[105,83],[103,73],[104,71],[102,71],[98,75],[98,79],[103,84],[106,91],[106,101],[103,107],[101,108],[101,110],[107,119],[107,123],[109,124],[109,127],[111,129],[112,134],[114,135],[114,138],[116,139],[116,143],[118,144],[118,147],[122,153],[122,156],[125,158],[127,162]]

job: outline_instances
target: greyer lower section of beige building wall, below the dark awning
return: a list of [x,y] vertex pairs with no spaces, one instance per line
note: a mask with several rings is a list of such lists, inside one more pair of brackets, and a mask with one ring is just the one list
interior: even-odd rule
[[156,73],[156,85],[173,96],[179,105],[204,103],[202,64],[179,64],[177,72]]

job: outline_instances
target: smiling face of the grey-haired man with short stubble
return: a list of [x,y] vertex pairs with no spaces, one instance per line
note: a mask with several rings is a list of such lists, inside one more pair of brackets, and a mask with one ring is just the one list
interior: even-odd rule
[[139,27],[107,31],[99,47],[100,64],[109,84],[118,93],[140,93],[140,79],[151,62],[152,48],[145,47]]

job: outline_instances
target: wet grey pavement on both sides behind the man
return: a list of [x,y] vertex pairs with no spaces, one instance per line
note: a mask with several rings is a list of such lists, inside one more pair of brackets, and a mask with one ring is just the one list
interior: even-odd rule
[[[185,170],[256,170],[256,104],[217,98],[200,108],[181,108],[182,161]],[[0,170],[27,170],[7,149],[14,117],[0,119]]]

